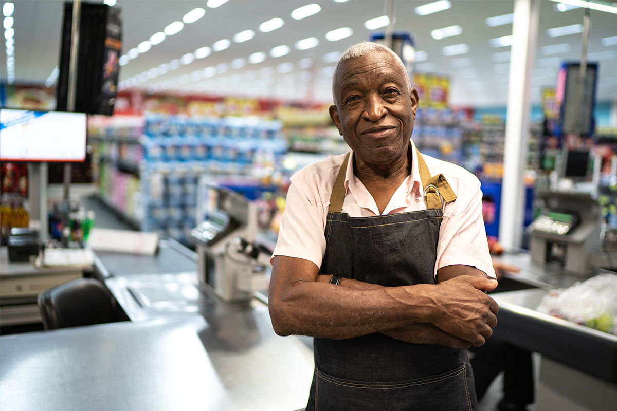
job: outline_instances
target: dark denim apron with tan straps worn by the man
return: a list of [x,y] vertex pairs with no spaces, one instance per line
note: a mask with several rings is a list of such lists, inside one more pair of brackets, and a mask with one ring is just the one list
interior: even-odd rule
[[[420,153],[428,209],[373,217],[341,213],[349,154],[339,169],[326,219],[320,274],[398,287],[434,284],[441,197],[456,196],[441,174],[431,177]],[[373,333],[346,340],[315,338],[315,373],[307,411],[478,409],[467,352],[412,344]]]

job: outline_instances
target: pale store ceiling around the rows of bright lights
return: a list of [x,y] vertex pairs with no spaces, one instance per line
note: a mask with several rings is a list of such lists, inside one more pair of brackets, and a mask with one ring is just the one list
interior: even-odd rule
[[[320,5],[320,12],[302,20],[291,17],[293,10],[312,2]],[[416,49],[426,53],[426,60],[418,62],[416,70],[450,76],[451,105],[505,105],[509,70],[507,52],[511,47],[492,47],[490,43],[491,39],[511,35],[512,24],[491,27],[486,18],[512,13],[514,1],[452,0],[450,9],[423,16],[415,13],[415,7],[428,2],[394,1],[394,30],[411,31]],[[44,83],[58,62],[63,1],[16,0],[14,4],[16,83]],[[532,79],[532,99],[535,102],[540,99],[541,87],[554,86],[561,59],[581,58],[581,33],[550,37],[547,30],[582,25],[584,11],[560,12],[556,5],[549,0],[540,4],[536,70]],[[200,47],[212,47],[221,39],[230,39],[231,45],[227,49],[212,51],[209,56],[186,65],[180,64],[175,70],[134,87],[184,94],[204,92],[292,100],[313,97],[323,102],[331,101],[331,73],[336,63],[327,57],[325,60],[324,56],[342,52],[350,44],[368,39],[370,30],[365,28],[366,20],[384,15],[382,0],[229,0],[217,8],[208,7],[205,0],[118,0],[117,6],[123,10],[125,53],[154,33],[163,31],[170,23],[181,21],[196,7],[205,9],[204,17],[185,24],[183,30],[167,36],[162,43],[121,67],[120,80],[128,80],[128,83],[122,83],[123,86],[135,83],[141,73],[152,68],[181,59]],[[262,33],[260,24],[275,17],[282,18],[284,25]],[[589,53],[592,59],[600,61],[598,100],[617,100],[617,44],[602,41],[617,36],[617,14],[592,10],[591,19]],[[443,39],[431,36],[432,30],[454,25],[462,28],[462,34]],[[343,27],[351,28],[353,35],[337,41],[326,39],[328,31]],[[234,35],[244,30],[253,30],[254,38],[234,43]],[[311,37],[318,39],[318,46],[304,51],[294,46],[297,41]],[[467,44],[468,52],[449,57],[444,55],[442,47],[455,44]],[[271,57],[270,50],[276,46],[289,46],[289,54]],[[555,47],[551,49],[550,46]],[[244,67],[231,67],[234,60],[249,59],[255,52],[264,52],[267,57],[260,63],[246,62]],[[4,47],[0,56],[0,77],[6,79]],[[312,67],[307,67],[307,58],[313,60]],[[224,63],[229,70],[221,73]],[[242,60],[236,60],[236,63],[241,65]],[[218,68],[218,73],[204,78],[207,67]],[[212,71],[206,73],[210,75]]]

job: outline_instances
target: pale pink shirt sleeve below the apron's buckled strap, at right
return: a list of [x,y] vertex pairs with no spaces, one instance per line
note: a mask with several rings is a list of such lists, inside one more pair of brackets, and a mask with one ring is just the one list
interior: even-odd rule
[[444,208],[434,274],[441,267],[463,264],[495,277],[482,221],[480,184],[465,185],[471,187],[458,190],[457,199]]

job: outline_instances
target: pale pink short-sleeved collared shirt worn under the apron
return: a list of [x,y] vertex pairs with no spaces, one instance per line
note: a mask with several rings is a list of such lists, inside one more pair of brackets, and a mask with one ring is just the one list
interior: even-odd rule
[[[420,181],[418,160],[413,150],[412,173],[403,181],[382,214],[407,213],[426,210],[424,187]],[[452,203],[444,202],[444,218],[439,228],[437,269],[454,264],[474,266],[495,276],[482,221],[482,192],[480,182],[466,169],[422,155],[431,175],[443,174],[457,195]],[[330,193],[345,155],[334,155],[317,161],[294,174],[274,256],[302,258],[321,266],[326,251],[326,216]],[[341,209],[350,217],[378,216],[379,210],[371,194],[354,175],[354,161],[347,163],[345,187],[347,190]],[[272,262],[273,259],[270,260]]]

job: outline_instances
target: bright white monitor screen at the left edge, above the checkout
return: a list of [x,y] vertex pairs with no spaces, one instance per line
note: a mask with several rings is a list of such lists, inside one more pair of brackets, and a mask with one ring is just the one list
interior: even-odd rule
[[0,109],[0,160],[84,161],[84,113]]

